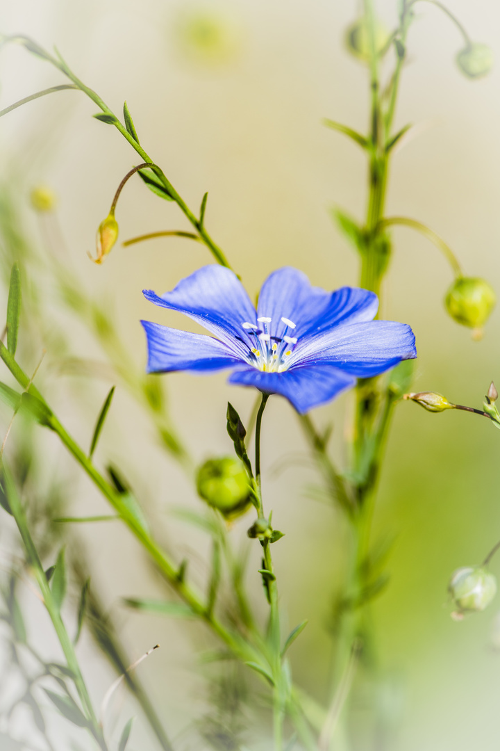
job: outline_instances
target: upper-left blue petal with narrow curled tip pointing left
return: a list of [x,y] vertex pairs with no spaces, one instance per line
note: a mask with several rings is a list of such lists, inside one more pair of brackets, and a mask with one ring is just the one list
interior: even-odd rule
[[151,290],[143,294],[151,303],[178,310],[202,324],[237,357],[253,347],[253,339],[241,324],[256,324],[256,310],[236,274],[223,266],[204,266],[161,296]]

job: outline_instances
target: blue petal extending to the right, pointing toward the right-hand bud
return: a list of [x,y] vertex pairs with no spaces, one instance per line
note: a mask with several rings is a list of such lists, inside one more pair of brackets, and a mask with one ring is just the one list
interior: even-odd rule
[[314,363],[328,363],[358,378],[393,367],[400,360],[417,357],[415,335],[406,324],[367,321],[339,326],[295,347],[289,358],[291,369]]

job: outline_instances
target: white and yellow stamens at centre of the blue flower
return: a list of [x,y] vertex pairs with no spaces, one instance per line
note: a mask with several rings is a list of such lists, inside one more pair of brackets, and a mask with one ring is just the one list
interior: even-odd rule
[[288,368],[288,360],[292,351],[297,344],[296,336],[288,336],[289,330],[293,330],[296,324],[289,318],[280,319],[285,324],[286,329],[283,336],[271,336],[268,324],[271,318],[261,316],[257,318],[257,323],[249,324],[245,321],[242,325],[247,330],[249,336],[255,337],[255,344],[248,353],[248,361],[258,370],[271,373],[280,373]]

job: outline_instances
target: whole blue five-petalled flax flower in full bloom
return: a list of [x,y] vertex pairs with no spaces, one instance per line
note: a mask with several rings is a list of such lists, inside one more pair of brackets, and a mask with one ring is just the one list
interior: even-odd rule
[[356,378],[417,355],[409,326],[373,321],[376,294],[353,287],[326,292],[291,267],[268,276],[257,310],[235,273],[216,265],[195,271],[161,297],[150,290],[144,295],[214,335],[142,321],[148,372],[232,368],[229,383],[281,394],[301,414],[352,388]]

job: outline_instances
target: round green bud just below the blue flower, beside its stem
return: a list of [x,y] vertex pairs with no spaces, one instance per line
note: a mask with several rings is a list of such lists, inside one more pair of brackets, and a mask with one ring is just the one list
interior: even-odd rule
[[250,506],[250,484],[240,460],[208,459],[196,473],[199,496],[226,519],[238,517]]

